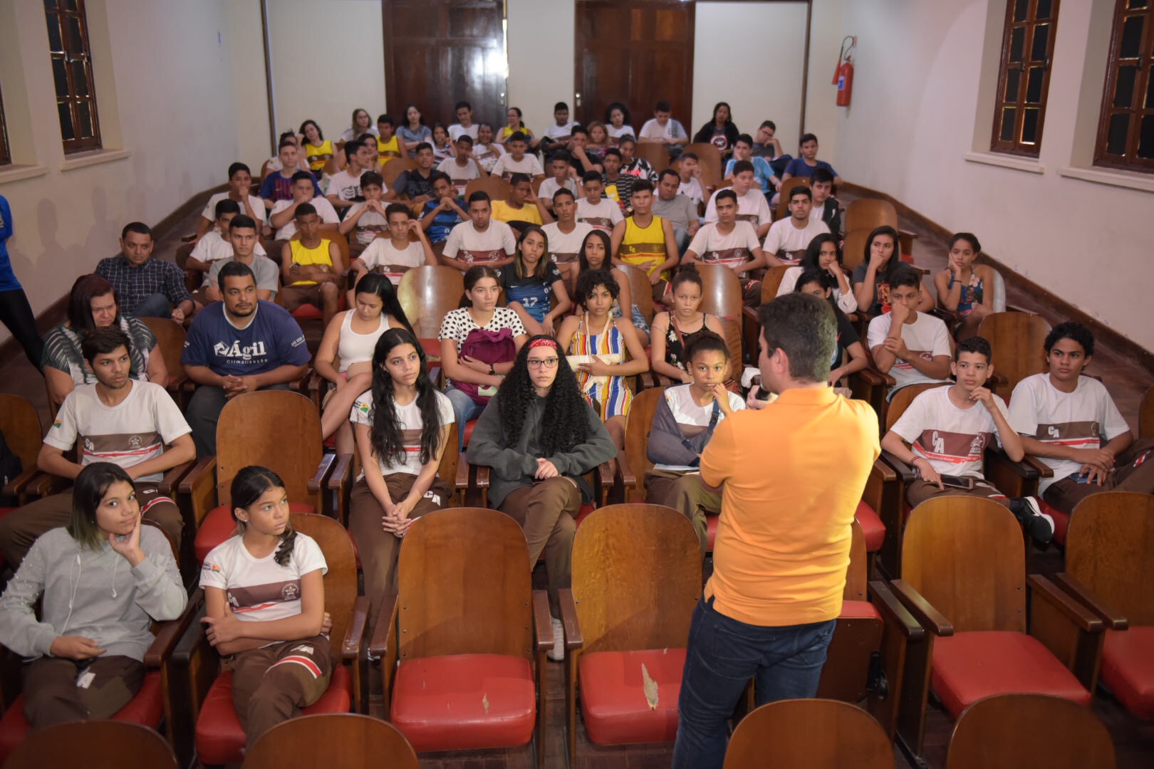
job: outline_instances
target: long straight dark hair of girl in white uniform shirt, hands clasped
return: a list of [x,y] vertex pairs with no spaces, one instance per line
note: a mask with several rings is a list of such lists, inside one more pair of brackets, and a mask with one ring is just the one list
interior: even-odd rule
[[388,465],[400,465],[405,461],[405,440],[400,433],[397,408],[394,398],[392,376],[384,367],[389,354],[400,345],[412,345],[421,361],[421,370],[417,376],[417,408],[421,414],[421,465],[436,457],[441,448],[441,417],[436,405],[436,387],[428,377],[428,363],[425,360],[425,348],[417,341],[417,336],[404,329],[389,329],[376,340],[373,348],[373,428],[369,440],[373,453]]

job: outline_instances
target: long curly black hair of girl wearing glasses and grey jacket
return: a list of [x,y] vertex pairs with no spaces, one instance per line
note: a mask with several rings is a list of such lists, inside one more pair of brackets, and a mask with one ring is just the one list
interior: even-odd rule
[[557,346],[553,337],[545,334],[532,337],[522,345],[517,359],[512,363],[512,369],[497,392],[497,409],[504,429],[505,445],[512,446],[520,439],[529,405],[537,398],[533,380],[529,376],[529,350],[533,342],[539,339],[552,341],[553,348],[557,353],[557,376],[545,399],[545,419],[548,421],[548,429],[540,430],[541,451],[544,455],[553,457],[557,452],[571,451],[574,446],[589,439],[590,408],[577,387],[577,377],[569,368],[564,350]]

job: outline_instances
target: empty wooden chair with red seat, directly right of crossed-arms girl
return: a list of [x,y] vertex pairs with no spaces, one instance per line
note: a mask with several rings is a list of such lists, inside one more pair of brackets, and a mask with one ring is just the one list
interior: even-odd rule
[[422,515],[405,534],[397,590],[369,643],[389,721],[418,752],[515,747],[535,732],[544,766],[553,625],[517,522],[477,507]]

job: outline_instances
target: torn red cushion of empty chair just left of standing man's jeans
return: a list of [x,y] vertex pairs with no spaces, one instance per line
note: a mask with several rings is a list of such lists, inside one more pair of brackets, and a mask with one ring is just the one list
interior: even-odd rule
[[[642,665],[657,681],[657,707],[642,688]],[[668,742],[677,734],[677,694],[684,649],[593,651],[577,663],[582,714],[598,745]]]

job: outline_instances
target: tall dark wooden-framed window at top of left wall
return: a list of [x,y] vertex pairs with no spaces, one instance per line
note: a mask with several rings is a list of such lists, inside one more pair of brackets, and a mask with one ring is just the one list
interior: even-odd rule
[[65,152],[100,149],[84,0],[44,0]]

